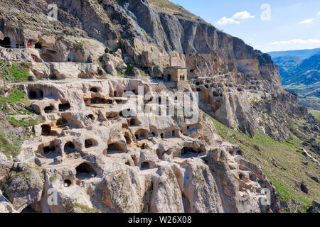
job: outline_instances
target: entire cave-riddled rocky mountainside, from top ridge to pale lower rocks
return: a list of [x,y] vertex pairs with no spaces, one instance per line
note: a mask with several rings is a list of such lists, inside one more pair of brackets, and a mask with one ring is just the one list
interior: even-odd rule
[[[58,5],[58,21],[46,17],[48,4]],[[225,125],[287,138],[290,114],[306,113],[297,96],[282,89],[269,55],[154,1],[14,0],[0,6],[0,38],[10,38],[11,46],[0,47],[1,60],[29,62],[39,80],[15,85],[43,118],[16,160],[0,162],[12,203],[0,203],[1,209],[280,211],[260,167],[247,161],[245,150],[223,141],[203,111],[193,123],[176,114],[123,114],[136,110],[122,96],[126,92],[142,98],[141,109],[160,106],[162,112],[182,105],[176,92],[198,92],[199,107]],[[174,66],[188,69],[183,89],[153,79]],[[151,78],[142,77],[146,73]],[[14,84],[5,86],[9,92]],[[147,99],[139,86],[149,92]],[[174,92],[168,104],[158,99],[161,92]],[[25,160],[31,170],[16,166]],[[6,176],[10,165],[16,177]]]

